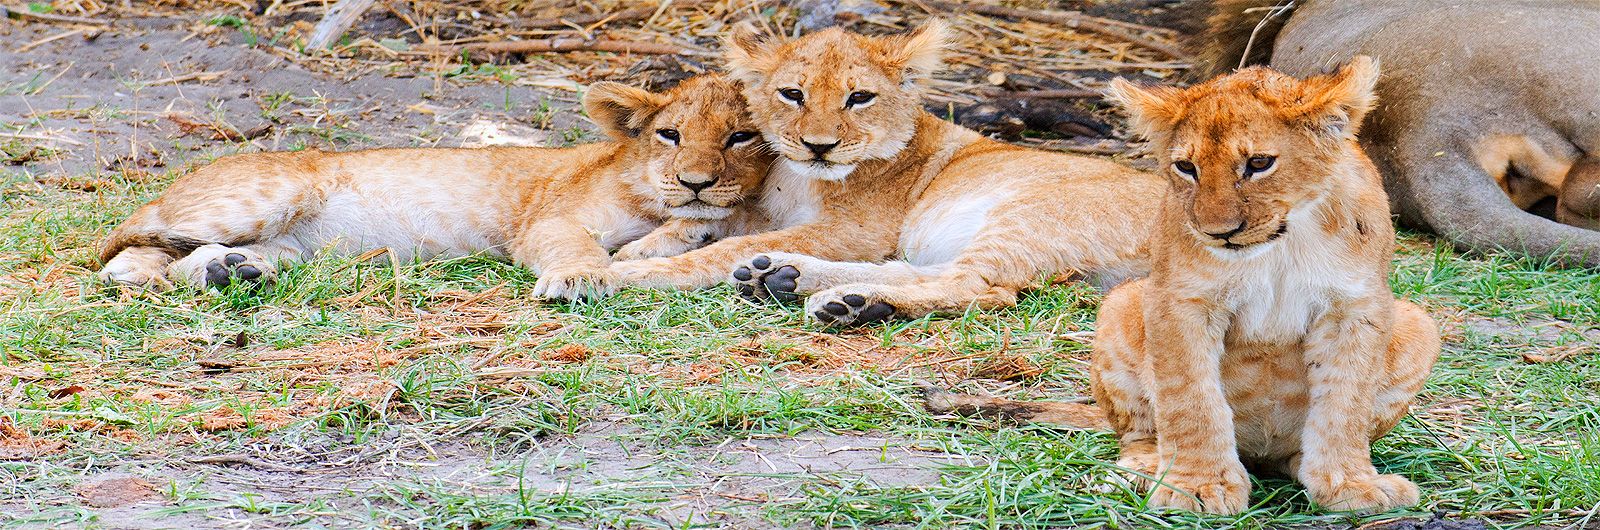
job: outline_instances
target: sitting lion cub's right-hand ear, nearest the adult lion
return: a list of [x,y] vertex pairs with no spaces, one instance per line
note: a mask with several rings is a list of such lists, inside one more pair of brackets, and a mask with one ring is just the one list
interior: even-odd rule
[[1378,59],[1358,54],[1338,72],[1310,77],[1304,82],[1294,118],[1339,139],[1355,138],[1362,118],[1373,109],[1378,96]]

